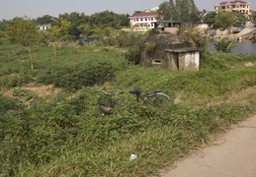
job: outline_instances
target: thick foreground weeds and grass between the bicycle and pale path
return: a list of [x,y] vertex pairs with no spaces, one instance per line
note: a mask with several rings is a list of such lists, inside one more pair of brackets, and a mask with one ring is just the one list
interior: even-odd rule
[[[92,92],[83,89],[73,100],[62,95],[57,101],[38,102],[26,116],[5,116],[5,130],[12,136],[1,142],[2,174],[145,176],[252,111],[248,105],[226,103],[176,105],[167,114],[129,104],[130,109],[104,117],[90,103],[96,101]],[[73,104],[77,100],[84,105],[78,112]],[[138,159],[129,161],[131,153]]]

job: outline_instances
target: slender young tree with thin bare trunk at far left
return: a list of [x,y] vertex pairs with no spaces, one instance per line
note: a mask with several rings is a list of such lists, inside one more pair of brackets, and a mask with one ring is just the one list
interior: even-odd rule
[[21,43],[26,46],[30,53],[31,69],[34,70],[31,47],[38,42],[38,29],[30,19],[15,18],[7,27],[8,39],[12,43]]

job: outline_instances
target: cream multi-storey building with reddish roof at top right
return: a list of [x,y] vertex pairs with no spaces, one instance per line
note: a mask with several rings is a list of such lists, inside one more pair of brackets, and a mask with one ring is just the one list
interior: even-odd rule
[[228,1],[220,2],[214,5],[214,11],[228,11],[228,12],[239,12],[241,14],[251,15],[250,3],[245,1]]

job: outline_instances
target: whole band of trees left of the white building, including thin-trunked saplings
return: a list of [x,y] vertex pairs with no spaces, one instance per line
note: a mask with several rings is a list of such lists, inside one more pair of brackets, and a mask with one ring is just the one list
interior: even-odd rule
[[[49,25],[49,29],[40,30],[40,25]],[[93,38],[97,43],[111,46],[130,47],[136,45],[137,52],[138,42],[144,35],[135,35],[128,30],[122,30],[122,27],[125,26],[128,26],[128,15],[118,15],[109,11],[92,16],[74,12],[59,15],[58,18],[48,15],[38,19],[16,17],[10,21],[0,22],[0,44],[6,40],[13,46],[19,43],[26,46],[30,53],[31,68],[34,70],[32,46],[39,43],[53,46],[54,57],[57,55],[57,48],[68,43],[67,41],[88,37]],[[79,40],[78,44],[85,43]],[[15,48],[13,53],[15,53]]]

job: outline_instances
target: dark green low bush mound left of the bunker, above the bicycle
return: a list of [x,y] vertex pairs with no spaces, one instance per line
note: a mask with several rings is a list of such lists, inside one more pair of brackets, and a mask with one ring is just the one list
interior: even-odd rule
[[53,84],[56,88],[82,89],[110,81],[115,76],[112,62],[90,59],[83,63],[50,67],[43,71],[37,82]]

